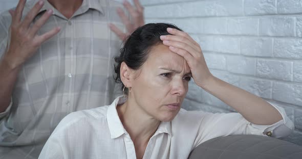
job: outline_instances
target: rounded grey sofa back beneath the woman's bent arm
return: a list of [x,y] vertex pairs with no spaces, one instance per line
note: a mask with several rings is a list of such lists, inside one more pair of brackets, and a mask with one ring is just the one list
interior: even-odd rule
[[208,140],[196,147],[189,159],[202,158],[302,158],[302,147],[255,135],[235,135]]

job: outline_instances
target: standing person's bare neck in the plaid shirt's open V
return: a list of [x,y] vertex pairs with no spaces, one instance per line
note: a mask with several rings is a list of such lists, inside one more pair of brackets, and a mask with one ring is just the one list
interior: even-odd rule
[[83,0],[47,0],[55,9],[57,9],[66,18],[72,15],[81,7]]

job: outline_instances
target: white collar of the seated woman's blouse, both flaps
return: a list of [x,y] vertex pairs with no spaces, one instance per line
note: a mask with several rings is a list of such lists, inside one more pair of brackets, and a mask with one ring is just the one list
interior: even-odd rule
[[[111,139],[120,137],[127,134],[116,110],[117,105],[124,103],[127,100],[125,96],[117,97],[107,110],[107,122],[111,134]],[[158,134],[167,133],[171,135],[171,122],[161,122],[153,136]]]

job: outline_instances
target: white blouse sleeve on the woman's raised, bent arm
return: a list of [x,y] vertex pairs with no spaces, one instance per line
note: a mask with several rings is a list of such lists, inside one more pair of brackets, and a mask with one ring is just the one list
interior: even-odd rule
[[228,135],[246,134],[275,138],[290,135],[294,129],[293,122],[287,117],[283,108],[270,104],[283,118],[272,125],[250,123],[240,113],[203,113],[194,145],[198,146],[207,140]]

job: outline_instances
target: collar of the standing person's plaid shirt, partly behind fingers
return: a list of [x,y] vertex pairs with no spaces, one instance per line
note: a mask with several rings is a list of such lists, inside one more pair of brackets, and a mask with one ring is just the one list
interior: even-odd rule
[[[39,0],[34,0],[31,1],[27,4],[27,8],[30,10],[33,8],[33,6],[38,2]],[[101,0],[102,1],[102,0]],[[104,13],[102,6],[101,6],[101,2],[99,0],[83,0],[83,3],[81,5],[81,7],[78,10],[88,10],[88,9],[95,9],[97,11],[99,11],[100,13]],[[54,15],[58,14],[56,13],[57,10],[47,1],[44,0],[44,6],[40,9],[40,12],[46,11],[48,9],[52,9],[54,11]]]

